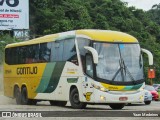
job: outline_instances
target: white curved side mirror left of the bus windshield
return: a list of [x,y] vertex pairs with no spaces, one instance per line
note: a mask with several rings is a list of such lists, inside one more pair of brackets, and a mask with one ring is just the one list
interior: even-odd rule
[[94,48],[89,47],[89,46],[84,46],[84,48],[92,53],[93,62],[95,64],[98,64],[98,53],[97,53],[97,51]]

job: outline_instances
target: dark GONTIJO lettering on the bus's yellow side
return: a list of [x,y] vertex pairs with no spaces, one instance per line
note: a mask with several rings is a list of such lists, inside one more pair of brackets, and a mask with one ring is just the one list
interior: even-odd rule
[[37,74],[38,68],[35,67],[18,67],[17,75]]

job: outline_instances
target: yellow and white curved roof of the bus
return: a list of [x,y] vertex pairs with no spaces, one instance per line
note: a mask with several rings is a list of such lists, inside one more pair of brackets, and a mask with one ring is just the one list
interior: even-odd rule
[[111,31],[111,30],[82,29],[82,30],[75,30],[75,31],[68,31],[68,32],[62,32],[57,34],[46,35],[43,37],[28,40],[28,41],[12,43],[12,44],[8,44],[6,48],[56,41],[64,38],[75,37],[75,35],[81,36],[81,37],[87,37],[87,38],[90,38],[91,40],[101,41],[101,42],[138,43],[138,40],[135,37],[123,32]]

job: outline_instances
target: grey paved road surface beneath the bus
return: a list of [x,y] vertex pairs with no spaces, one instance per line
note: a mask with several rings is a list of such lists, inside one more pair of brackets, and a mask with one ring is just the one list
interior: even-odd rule
[[[135,117],[136,114],[157,114],[155,112],[158,111],[159,117],[140,117],[141,119],[150,120],[150,119],[159,119],[160,118],[160,101],[152,101],[150,105],[145,105],[144,103],[136,103],[131,104],[130,106],[125,106],[122,110],[112,110],[107,105],[87,105],[86,109],[83,110],[77,110],[72,109],[70,106],[70,103],[67,103],[67,106],[65,107],[59,107],[59,106],[50,106],[48,101],[39,102],[36,106],[34,105],[16,105],[15,99],[11,99],[8,97],[5,97],[3,95],[3,92],[0,92],[0,111],[12,111],[12,112],[22,112],[21,114],[25,112],[38,112],[42,114],[42,117],[47,116],[47,119],[55,118],[58,119],[84,119],[84,120],[97,120],[97,119],[107,119],[110,120],[114,117],[114,119],[117,120],[135,120],[137,117]],[[45,112],[43,112],[45,111]],[[121,117],[122,115],[122,117]],[[58,117],[57,117],[58,116]],[[93,117],[94,116],[94,117]],[[100,117],[102,116],[102,117]],[[106,118],[106,116],[109,116]],[[116,116],[116,117],[115,117]],[[127,116],[127,117],[125,117]],[[0,118],[1,119],[1,118]],[[4,119],[4,118],[2,118]],[[25,118],[27,119],[27,118]],[[33,118],[35,120],[43,120],[46,118]]]

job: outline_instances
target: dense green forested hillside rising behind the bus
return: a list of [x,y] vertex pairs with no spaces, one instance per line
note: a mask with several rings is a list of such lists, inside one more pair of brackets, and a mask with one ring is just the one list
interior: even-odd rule
[[160,82],[160,4],[145,12],[128,8],[120,0],[30,0],[31,37],[85,28],[135,36],[141,47],[153,53],[156,81]]

